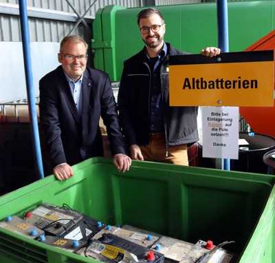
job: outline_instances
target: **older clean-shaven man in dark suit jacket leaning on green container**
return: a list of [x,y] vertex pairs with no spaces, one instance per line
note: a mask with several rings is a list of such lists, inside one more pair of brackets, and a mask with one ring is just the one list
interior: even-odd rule
[[70,178],[71,165],[103,155],[100,116],[114,165],[129,170],[131,158],[125,154],[109,76],[87,67],[87,43],[80,36],[61,41],[58,61],[61,65],[39,81],[41,125],[54,176]]

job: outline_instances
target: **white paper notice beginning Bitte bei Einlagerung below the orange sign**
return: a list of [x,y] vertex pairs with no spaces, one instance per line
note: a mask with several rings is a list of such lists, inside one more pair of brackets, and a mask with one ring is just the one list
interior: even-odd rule
[[201,107],[203,157],[238,159],[239,107]]

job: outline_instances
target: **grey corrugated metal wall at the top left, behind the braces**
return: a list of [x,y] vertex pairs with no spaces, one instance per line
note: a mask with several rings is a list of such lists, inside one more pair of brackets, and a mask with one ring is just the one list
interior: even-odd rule
[[[76,11],[83,15],[85,10],[87,10],[91,3],[95,0],[69,0],[69,2],[74,6]],[[170,4],[178,3],[198,3],[199,0],[155,0],[156,6],[164,6]],[[3,8],[8,10],[16,9],[19,0],[0,0],[0,41],[21,41],[20,34],[20,23],[18,14],[5,14]],[[128,8],[140,7],[142,5],[142,0],[96,0],[94,6],[87,12],[85,18],[88,19],[89,26],[91,28],[91,21],[94,19],[96,11],[98,8],[103,8],[104,6],[115,4],[118,6],[125,6]],[[34,12],[43,11],[44,14],[51,11],[53,18],[43,18],[29,17],[30,23],[30,38],[31,41],[49,41],[49,42],[59,42],[61,39],[70,32],[74,27],[77,17],[74,10],[69,6],[65,0],[28,0],[28,6],[34,10]],[[56,16],[54,12],[60,11],[63,19],[58,19],[60,16]],[[10,11],[9,11],[10,12]],[[29,14],[30,16],[30,14]],[[67,20],[67,21],[66,21]],[[74,31],[75,34],[80,34],[81,36],[86,36],[87,32],[83,29],[82,25]],[[88,32],[91,33],[91,32]]]

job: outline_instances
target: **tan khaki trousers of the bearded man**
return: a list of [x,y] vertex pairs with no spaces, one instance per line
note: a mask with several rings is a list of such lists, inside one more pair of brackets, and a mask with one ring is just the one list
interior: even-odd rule
[[169,146],[167,149],[168,156],[166,157],[164,134],[150,134],[149,144],[140,145],[140,149],[144,160],[188,166],[187,145]]

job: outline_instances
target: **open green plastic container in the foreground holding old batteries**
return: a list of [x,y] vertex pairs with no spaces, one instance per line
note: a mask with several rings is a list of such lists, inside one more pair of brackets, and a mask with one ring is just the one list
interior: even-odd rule
[[[129,172],[119,173],[104,158],[81,162],[74,172],[69,180],[50,176],[2,196],[0,220],[43,202],[66,203],[107,224],[130,224],[187,242],[235,240],[239,262],[275,262],[273,176],[155,162],[133,162]],[[0,229],[0,262],[96,260]]]

